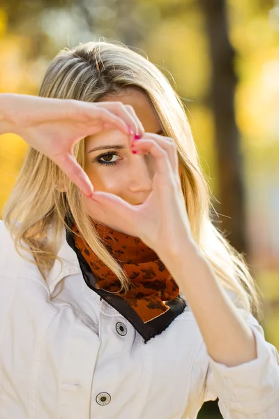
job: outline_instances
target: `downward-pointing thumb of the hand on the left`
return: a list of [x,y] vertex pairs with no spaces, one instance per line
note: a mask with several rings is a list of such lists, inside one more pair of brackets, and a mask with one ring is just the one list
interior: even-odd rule
[[90,182],[89,177],[86,175],[82,166],[77,163],[75,156],[73,154],[61,154],[60,156],[55,156],[54,163],[56,163],[63,172],[68,176],[68,178],[82,191],[84,196],[90,197],[94,191],[93,185]]

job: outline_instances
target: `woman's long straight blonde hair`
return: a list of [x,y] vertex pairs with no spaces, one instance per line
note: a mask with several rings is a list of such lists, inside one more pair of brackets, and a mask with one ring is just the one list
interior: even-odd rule
[[[168,137],[174,138],[181,168],[181,186],[195,243],[209,260],[216,277],[232,290],[241,307],[258,315],[257,286],[243,255],[234,249],[211,221],[211,195],[199,163],[199,156],[186,112],[179,95],[163,73],[147,58],[121,43],[89,42],[65,48],[47,68],[39,96],[74,98],[98,102],[127,89],[140,89],[151,101]],[[85,139],[75,145],[74,154],[86,169]],[[66,185],[59,191],[54,184]],[[212,207],[213,208],[213,207]],[[75,221],[80,235],[96,255],[116,274],[121,290],[130,279],[98,237],[82,200],[82,193],[47,156],[27,149],[20,175],[3,209],[3,220],[15,236],[17,252],[24,249],[46,280],[59,250],[64,229],[73,232],[66,219]],[[20,221],[18,223],[17,221]],[[50,237],[49,228],[54,233]]]

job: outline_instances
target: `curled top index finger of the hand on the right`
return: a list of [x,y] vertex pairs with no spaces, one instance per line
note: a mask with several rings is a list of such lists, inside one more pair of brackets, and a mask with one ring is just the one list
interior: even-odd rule
[[[147,137],[147,135],[146,135]],[[176,173],[179,170],[179,159],[177,156],[177,149],[176,149],[176,143],[172,138],[169,137],[163,137],[161,135],[148,133],[148,138],[141,138],[140,140],[135,140],[133,142],[132,150],[137,150],[138,154],[144,154],[144,144],[150,145],[151,143],[144,143],[144,141],[148,141],[149,139],[153,142],[156,142],[162,149],[167,152],[167,155],[169,157],[170,165],[172,166],[172,170]],[[141,145],[142,144],[142,145]],[[148,149],[149,150],[149,149]]]

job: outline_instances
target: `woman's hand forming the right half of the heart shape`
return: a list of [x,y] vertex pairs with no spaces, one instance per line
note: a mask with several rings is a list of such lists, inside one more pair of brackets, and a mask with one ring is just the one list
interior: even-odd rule
[[176,255],[181,245],[193,242],[181,182],[176,143],[163,135],[145,133],[132,150],[151,154],[152,191],[140,205],[130,205],[113,193],[96,191],[94,219],[115,230],[139,237],[158,256]]

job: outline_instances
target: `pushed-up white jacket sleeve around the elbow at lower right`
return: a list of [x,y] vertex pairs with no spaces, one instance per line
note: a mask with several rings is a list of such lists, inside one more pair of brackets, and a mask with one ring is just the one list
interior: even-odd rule
[[204,402],[218,397],[225,419],[279,418],[279,355],[264,339],[255,317],[239,309],[255,335],[257,358],[236,367],[215,362],[209,356]]

